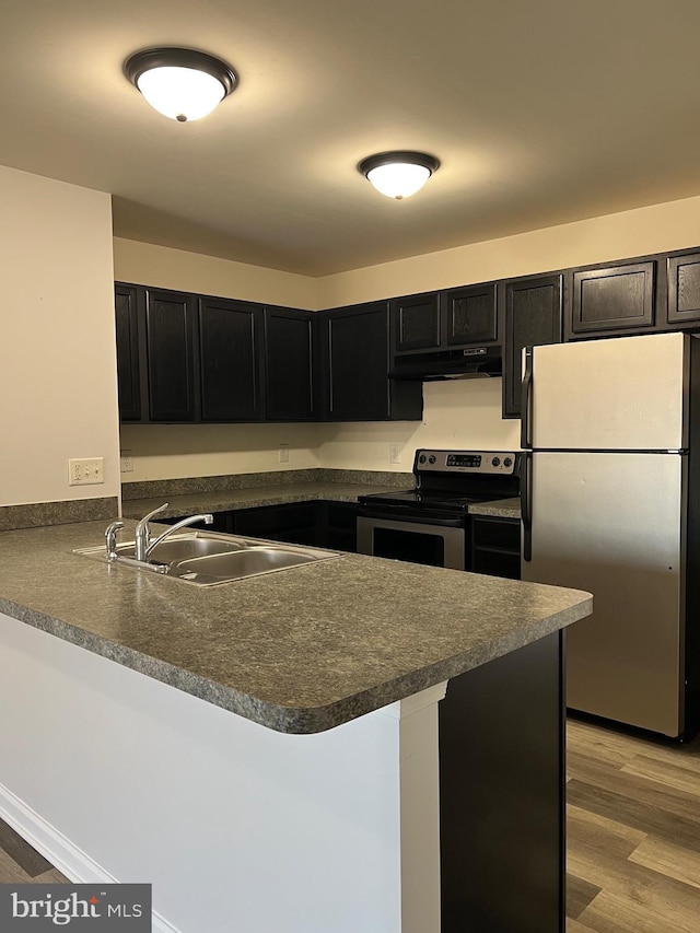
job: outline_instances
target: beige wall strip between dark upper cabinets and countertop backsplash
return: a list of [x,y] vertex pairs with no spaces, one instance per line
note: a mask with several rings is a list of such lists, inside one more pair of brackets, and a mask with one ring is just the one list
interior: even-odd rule
[[[428,383],[422,422],[347,424],[130,424],[121,446],[133,455],[127,482],[266,470],[410,470],[416,447],[520,448],[520,421],[501,419],[501,380]],[[280,464],[280,444],[289,463]],[[400,462],[389,463],[398,444]]]

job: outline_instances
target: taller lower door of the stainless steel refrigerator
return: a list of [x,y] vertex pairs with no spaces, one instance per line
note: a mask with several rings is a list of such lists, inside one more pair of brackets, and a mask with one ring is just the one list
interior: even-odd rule
[[540,453],[523,580],[593,593],[567,630],[567,704],[682,732],[687,456]]

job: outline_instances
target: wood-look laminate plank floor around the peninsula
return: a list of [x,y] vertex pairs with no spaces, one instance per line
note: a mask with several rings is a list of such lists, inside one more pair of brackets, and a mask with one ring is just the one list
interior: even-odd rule
[[[700,933],[700,737],[567,728],[567,933]],[[68,882],[0,820],[0,883]]]

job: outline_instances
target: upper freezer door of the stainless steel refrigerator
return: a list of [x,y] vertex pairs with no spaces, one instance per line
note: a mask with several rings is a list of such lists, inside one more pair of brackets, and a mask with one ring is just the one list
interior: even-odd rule
[[[687,446],[690,338],[656,334],[533,348],[533,448]],[[527,419],[526,419],[527,420]]]

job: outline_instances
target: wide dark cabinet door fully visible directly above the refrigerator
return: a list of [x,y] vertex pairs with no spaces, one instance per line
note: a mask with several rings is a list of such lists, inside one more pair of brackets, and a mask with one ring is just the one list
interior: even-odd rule
[[654,267],[650,261],[574,271],[572,335],[653,327]]

